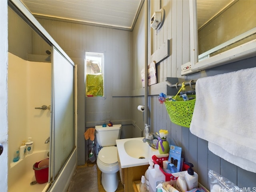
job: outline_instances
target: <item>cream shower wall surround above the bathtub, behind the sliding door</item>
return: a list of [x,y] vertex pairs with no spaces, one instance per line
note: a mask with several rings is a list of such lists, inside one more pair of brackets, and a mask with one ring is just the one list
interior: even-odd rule
[[23,140],[32,137],[34,151],[50,150],[51,63],[30,62],[8,53],[9,164]]

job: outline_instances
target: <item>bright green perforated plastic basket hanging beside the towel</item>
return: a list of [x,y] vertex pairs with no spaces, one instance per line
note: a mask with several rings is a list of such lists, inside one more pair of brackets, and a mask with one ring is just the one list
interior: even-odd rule
[[194,99],[184,101],[183,98],[177,97],[175,99],[176,101],[164,102],[171,122],[183,127],[190,127],[196,95],[190,95],[190,97],[193,97]]

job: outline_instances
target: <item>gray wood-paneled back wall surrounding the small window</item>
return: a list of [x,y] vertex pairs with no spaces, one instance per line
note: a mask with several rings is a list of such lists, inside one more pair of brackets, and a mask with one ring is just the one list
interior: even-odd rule
[[[38,18],[48,33],[58,42],[63,50],[76,60],[84,60],[85,52],[103,52],[105,61],[105,97],[86,98],[86,114],[82,110],[78,113],[86,116],[86,123],[90,125],[102,124],[106,119],[130,120],[131,99],[128,97],[112,98],[112,91],[117,92],[131,90],[130,77],[131,52],[129,50],[131,36],[129,31],[103,28],[97,26],[86,26],[71,22],[56,21]],[[77,63],[78,66],[84,63]],[[79,72],[78,78],[84,76]],[[84,82],[79,81],[78,87],[85,87]],[[83,89],[84,90],[84,89]],[[85,95],[80,91],[79,94]],[[79,105],[79,104],[78,104]],[[85,121],[85,118],[84,118]],[[78,127],[78,164],[84,164],[84,153],[86,150],[83,133],[85,127]]]

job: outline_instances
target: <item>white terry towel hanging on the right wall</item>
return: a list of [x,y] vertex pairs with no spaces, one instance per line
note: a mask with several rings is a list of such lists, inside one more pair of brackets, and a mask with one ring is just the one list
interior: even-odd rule
[[214,154],[256,172],[256,68],[196,81],[190,132]]

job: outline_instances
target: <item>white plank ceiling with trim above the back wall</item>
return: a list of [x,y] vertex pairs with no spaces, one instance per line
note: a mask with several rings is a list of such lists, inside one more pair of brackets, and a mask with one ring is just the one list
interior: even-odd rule
[[131,29],[144,0],[21,0],[34,15]]

